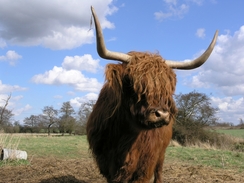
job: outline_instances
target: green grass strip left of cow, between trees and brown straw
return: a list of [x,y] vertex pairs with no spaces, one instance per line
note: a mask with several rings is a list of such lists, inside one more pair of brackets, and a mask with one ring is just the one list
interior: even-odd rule
[[86,158],[89,156],[86,136],[35,136],[12,135],[8,140],[19,138],[18,150],[26,151],[28,159],[35,157]]

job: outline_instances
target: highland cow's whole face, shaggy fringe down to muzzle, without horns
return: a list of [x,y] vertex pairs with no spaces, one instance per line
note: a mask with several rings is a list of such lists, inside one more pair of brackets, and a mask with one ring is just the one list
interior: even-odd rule
[[157,128],[169,124],[176,108],[173,94],[176,76],[160,55],[129,53],[134,59],[122,76],[122,103],[126,103],[135,121],[142,127]]

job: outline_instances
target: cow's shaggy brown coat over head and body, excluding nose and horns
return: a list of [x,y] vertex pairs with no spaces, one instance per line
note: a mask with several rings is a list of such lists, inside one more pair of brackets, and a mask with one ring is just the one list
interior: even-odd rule
[[[108,64],[87,122],[87,138],[108,182],[162,182],[164,154],[176,114],[176,75],[158,54],[130,52],[129,64]],[[145,122],[155,109],[169,112],[160,128]]]

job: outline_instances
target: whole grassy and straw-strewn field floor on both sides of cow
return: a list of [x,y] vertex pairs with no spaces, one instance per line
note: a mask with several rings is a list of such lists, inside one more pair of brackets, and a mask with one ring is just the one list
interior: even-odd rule
[[[28,153],[28,160],[0,161],[0,183],[105,183],[89,154],[86,136],[0,134],[0,146]],[[1,148],[1,147],[0,147]],[[244,153],[209,144],[182,147],[172,141],[163,168],[164,182],[244,182]]]

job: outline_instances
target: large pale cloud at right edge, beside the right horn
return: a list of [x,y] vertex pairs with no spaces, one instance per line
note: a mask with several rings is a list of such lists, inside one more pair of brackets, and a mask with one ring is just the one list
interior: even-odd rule
[[243,50],[244,25],[233,34],[226,31],[219,35],[208,61],[192,71],[185,82],[188,87],[209,88],[218,95],[211,99],[212,104],[219,108],[218,116],[223,122],[238,124],[239,119],[244,118]]

